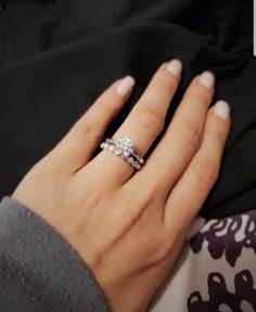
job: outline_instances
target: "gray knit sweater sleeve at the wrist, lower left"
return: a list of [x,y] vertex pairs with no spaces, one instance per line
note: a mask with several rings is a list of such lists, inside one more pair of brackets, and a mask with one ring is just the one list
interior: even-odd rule
[[0,203],[0,311],[110,311],[72,246],[10,197]]

